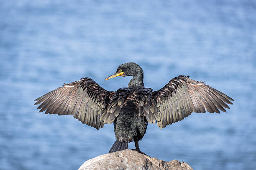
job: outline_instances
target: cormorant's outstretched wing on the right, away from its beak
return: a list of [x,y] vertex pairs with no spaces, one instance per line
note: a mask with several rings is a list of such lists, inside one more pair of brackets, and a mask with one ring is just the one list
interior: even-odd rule
[[159,128],[178,122],[191,115],[192,112],[226,112],[232,98],[206,85],[204,82],[179,75],[170,80],[163,88],[154,91],[153,100],[159,109],[161,120]]

